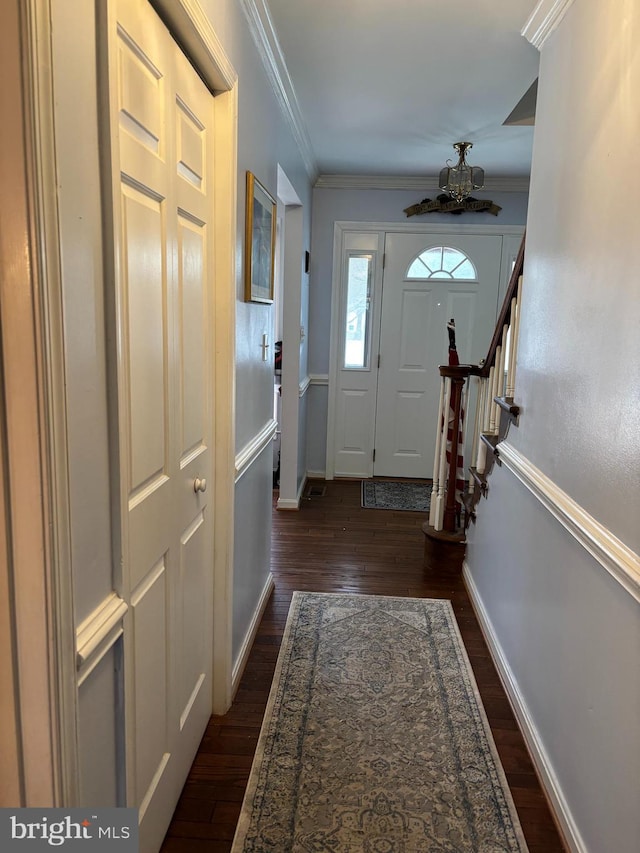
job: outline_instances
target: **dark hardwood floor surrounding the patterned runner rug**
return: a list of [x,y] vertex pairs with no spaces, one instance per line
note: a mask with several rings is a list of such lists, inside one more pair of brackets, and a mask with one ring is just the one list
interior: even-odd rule
[[313,485],[326,485],[324,495],[303,499],[299,512],[274,511],[275,590],[233,706],[209,723],[162,853],[231,849],[293,590],[450,599],[529,850],[565,851],[462,578],[423,565],[424,516],[362,509],[360,481]]

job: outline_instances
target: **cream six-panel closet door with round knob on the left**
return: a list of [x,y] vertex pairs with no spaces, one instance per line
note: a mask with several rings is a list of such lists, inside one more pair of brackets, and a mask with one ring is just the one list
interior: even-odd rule
[[127,803],[153,853],[212,703],[214,110],[146,0],[108,27]]

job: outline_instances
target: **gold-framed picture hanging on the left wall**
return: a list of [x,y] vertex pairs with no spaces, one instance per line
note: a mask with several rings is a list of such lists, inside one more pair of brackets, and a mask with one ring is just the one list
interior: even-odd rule
[[273,302],[275,248],[275,199],[254,174],[247,172],[244,249],[245,302]]

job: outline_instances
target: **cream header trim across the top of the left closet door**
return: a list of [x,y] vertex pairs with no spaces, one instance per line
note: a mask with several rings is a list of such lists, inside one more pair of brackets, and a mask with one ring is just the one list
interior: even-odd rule
[[195,61],[211,91],[232,89],[238,75],[198,0],[151,0],[151,5]]

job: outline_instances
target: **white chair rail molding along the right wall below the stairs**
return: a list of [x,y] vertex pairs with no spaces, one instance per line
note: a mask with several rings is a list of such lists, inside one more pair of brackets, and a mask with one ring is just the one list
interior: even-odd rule
[[530,492],[600,565],[640,602],[640,556],[628,548],[508,442],[498,445],[504,462]]

